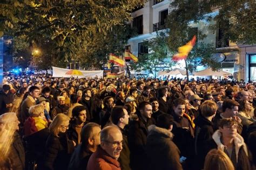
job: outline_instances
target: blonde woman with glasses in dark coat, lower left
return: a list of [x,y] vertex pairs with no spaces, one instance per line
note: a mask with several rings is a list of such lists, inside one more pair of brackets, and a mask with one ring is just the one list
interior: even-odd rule
[[70,118],[58,114],[49,126],[50,135],[46,141],[44,166],[42,169],[66,169],[70,160],[70,151],[75,145],[66,137]]

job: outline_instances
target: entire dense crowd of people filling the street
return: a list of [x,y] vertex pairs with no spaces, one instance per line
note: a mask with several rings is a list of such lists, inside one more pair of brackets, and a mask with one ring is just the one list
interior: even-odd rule
[[0,169],[255,169],[255,84],[5,75]]

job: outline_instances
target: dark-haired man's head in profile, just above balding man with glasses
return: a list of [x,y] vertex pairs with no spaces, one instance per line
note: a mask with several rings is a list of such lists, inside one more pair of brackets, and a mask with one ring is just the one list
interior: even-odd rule
[[129,123],[129,115],[126,109],[123,107],[117,106],[114,107],[111,111],[111,119],[113,124],[123,124],[127,125]]

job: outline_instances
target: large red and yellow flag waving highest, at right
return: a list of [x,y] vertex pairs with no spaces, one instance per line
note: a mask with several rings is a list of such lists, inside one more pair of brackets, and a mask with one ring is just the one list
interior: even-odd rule
[[178,54],[173,55],[172,60],[179,61],[186,59],[188,53],[190,53],[191,49],[196,44],[196,38],[196,36],[193,36],[193,38],[190,41],[188,41],[186,45],[179,47]]

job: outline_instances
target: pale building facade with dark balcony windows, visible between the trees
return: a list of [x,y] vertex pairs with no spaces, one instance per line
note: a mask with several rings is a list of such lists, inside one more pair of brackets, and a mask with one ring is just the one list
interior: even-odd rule
[[[129,49],[138,58],[140,55],[150,52],[150,49],[143,46],[143,41],[156,37],[156,31],[165,29],[165,19],[171,10],[170,3],[169,0],[150,0],[144,7],[132,11],[131,27],[137,29],[138,36],[132,37],[128,41],[126,49]],[[215,10],[208,15],[217,14],[218,10]],[[191,26],[207,35],[201,41],[212,43],[218,54],[224,56],[224,60],[219,61],[224,71],[232,73],[233,78],[237,80],[256,81],[256,45],[237,45],[228,39],[223,39],[223,30],[221,28],[212,30],[210,28],[212,24],[215,24],[214,20],[211,22],[201,20],[197,24],[191,23]],[[166,59],[157,69],[170,69],[166,64],[168,62],[171,62],[171,59]]]

